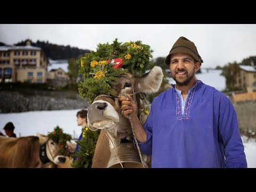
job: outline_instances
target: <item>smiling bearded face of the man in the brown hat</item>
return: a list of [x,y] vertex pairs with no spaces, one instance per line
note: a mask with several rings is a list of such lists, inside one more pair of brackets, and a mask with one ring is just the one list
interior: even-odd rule
[[195,77],[195,71],[200,68],[200,63],[195,63],[194,58],[189,54],[174,53],[171,55],[169,68],[174,81],[184,86]]

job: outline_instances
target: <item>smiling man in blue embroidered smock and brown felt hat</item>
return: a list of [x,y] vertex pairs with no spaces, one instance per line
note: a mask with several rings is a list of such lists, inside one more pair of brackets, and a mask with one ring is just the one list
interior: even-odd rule
[[203,60],[195,44],[180,37],[165,63],[176,85],[153,100],[143,126],[132,97],[120,98],[142,153],[152,155],[152,167],[247,167],[232,103],[196,79]]

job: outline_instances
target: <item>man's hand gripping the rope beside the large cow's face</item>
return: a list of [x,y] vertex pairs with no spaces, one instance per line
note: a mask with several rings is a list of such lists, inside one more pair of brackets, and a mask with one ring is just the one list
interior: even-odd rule
[[121,114],[126,117],[129,118],[129,114],[131,117],[135,117],[137,116],[137,111],[138,111],[138,107],[135,104],[135,102],[133,101],[132,97],[130,94],[128,94],[128,97],[121,97],[119,98],[119,100],[121,101]]

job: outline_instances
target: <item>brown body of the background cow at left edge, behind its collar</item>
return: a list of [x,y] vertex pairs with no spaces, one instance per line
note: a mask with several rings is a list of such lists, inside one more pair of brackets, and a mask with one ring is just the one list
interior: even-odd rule
[[0,138],[0,167],[39,167],[39,138]]

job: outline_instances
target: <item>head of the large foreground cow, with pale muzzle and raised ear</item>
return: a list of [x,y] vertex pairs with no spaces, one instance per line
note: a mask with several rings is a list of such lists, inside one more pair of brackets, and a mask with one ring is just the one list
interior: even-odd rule
[[[161,67],[155,66],[142,77],[136,77],[129,73],[122,74],[112,88],[118,96],[124,96],[125,93],[133,94],[134,101],[137,101],[139,105],[140,99],[136,97],[138,93],[157,92],[162,79]],[[114,97],[108,95],[98,95],[94,99],[92,105],[88,108],[87,114],[90,130],[105,129],[116,138],[125,138],[132,135],[129,119],[121,115],[121,103],[117,101]]]

